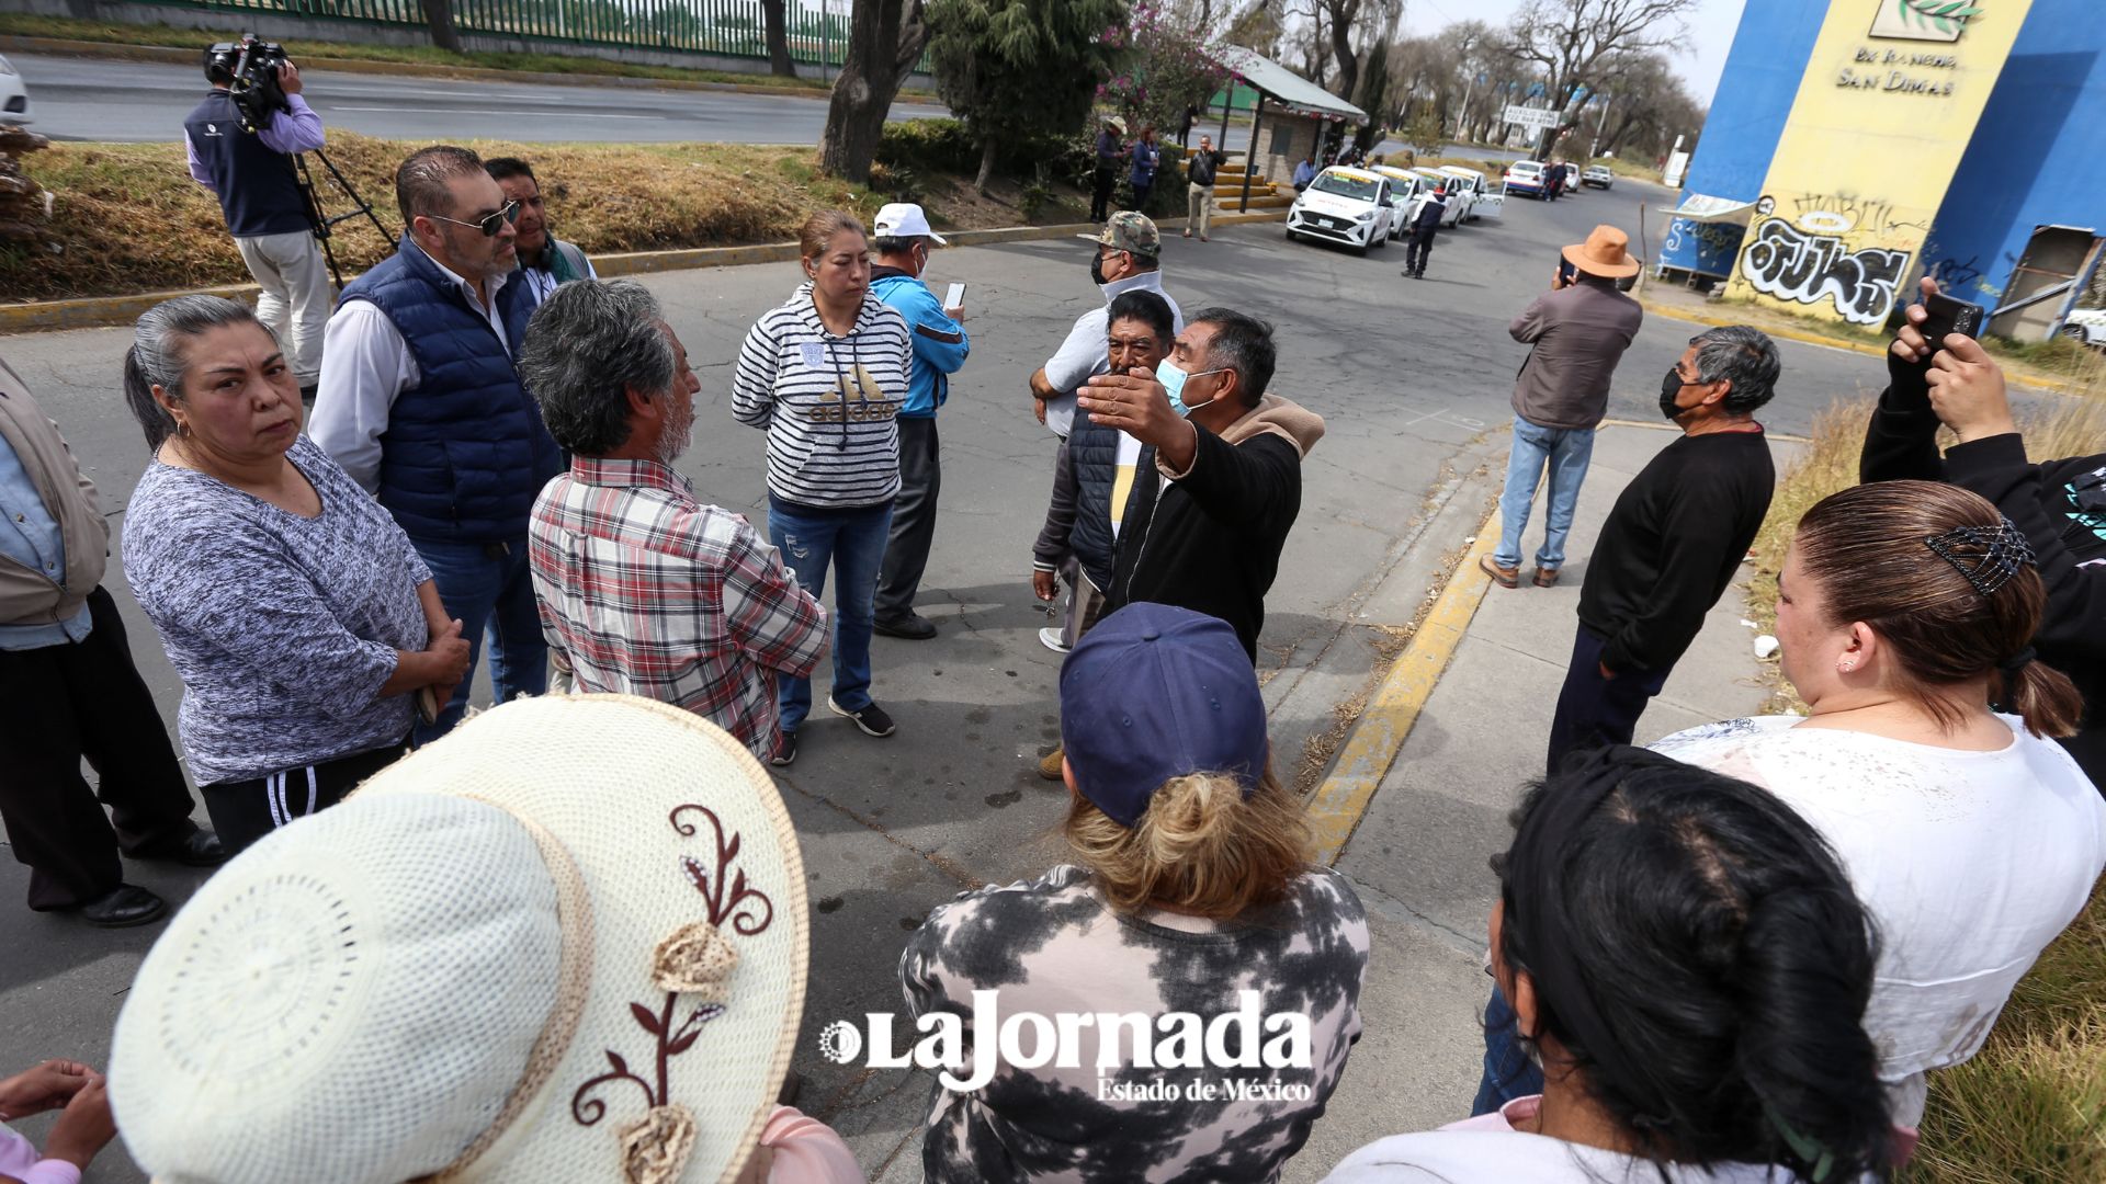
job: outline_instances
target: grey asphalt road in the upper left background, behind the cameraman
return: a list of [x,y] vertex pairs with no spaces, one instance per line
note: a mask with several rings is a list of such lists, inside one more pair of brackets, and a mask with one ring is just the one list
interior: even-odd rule
[[[53,139],[173,141],[206,91],[202,72],[183,65],[27,53],[8,61],[29,86],[34,131]],[[823,97],[301,74],[326,126],[385,139],[819,143],[826,129]],[[895,120],[941,114],[893,105]]]

